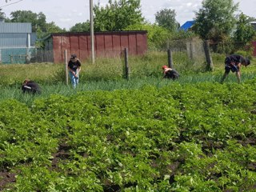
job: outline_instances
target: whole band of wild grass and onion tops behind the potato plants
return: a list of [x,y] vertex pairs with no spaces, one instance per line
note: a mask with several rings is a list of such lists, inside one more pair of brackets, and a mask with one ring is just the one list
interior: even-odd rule
[[[36,98],[47,98],[50,94],[70,95],[79,91],[94,90],[118,90],[118,89],[140,89],[143,86],[173,86],[212,82],[218,83],[224,73],[224,56],[214,54],[214,72],[203,72],[203,66],[190,61],[186,54],[175,53],[173,55],[174,68],[180,73],[177,81],[162,79],[162,65],[167,64],[167,54],[162,52],[151,52],[143,56],[130,57],[130,80],[123,77],[123,58],[97,58],[95,63],[82,62],[80,84],[77,89],[66,86],[64,64],[25,64],[25,65],[0,65],[0,100],[14,98],[20,102],[31,104]],[[242,81],[255,77],[256,66],[254,62],[250,66],[242,67]],[[42,86],[41,95],[22,94],[20,89],[25,78],[33,79]],[[226,78],[225,83],[236,83],[237,79],[233,73]]]

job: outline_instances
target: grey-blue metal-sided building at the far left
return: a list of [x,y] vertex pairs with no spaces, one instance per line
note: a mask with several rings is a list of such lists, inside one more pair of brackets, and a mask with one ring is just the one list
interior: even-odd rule
[[0,63],[26,63],[35,42],[31,23],[0,21]]

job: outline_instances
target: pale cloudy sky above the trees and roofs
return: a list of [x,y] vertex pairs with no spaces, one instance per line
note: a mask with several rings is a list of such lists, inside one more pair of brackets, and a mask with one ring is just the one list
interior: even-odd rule
[[[114,1],[114,0],[113,0]],[[105,6],[108,0],[93,0]],[[239,2],[239,10],[250,17],[256,18],[256,0],[234,0]],[[202,6],[201,0],[141,0],[142,14],[149,22],[154,22],[154,14],[164,8],[176,11],[176,20],[182,25],[193,20],[194,12]],[[34,13],[42,12],[47,22],[70,29],[75,23],[85,22],[90,18],[90,0],[0,0],[0,7],[10,17],[15,10],[31,10]]]

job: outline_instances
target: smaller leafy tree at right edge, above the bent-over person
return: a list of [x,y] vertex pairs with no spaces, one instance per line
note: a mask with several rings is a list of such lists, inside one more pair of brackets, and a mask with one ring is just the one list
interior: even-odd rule
[[245,14],[239,14],[237,27],[234,32],[234,42],[251,42],[255,36],[254,27],[250,24],[251,18]]

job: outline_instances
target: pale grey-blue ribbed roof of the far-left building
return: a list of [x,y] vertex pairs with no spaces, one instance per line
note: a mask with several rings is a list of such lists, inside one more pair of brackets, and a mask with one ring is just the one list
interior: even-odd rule
[[0,22],[0,34],[32,33],[30,22]]

